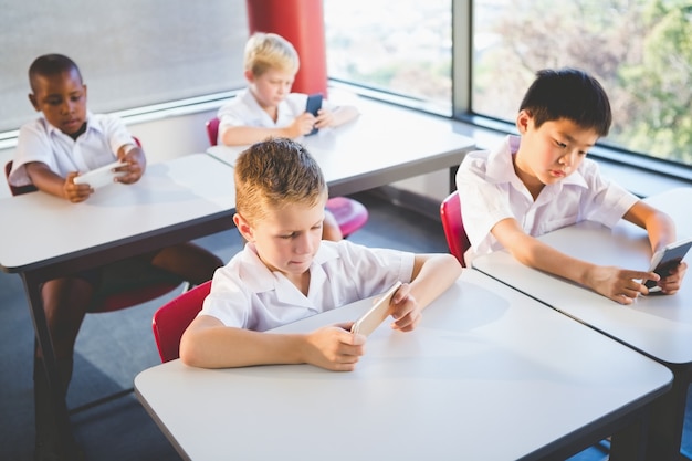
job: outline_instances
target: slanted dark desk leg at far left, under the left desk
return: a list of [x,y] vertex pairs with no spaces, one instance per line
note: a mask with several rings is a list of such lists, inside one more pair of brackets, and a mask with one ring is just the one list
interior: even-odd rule
[[45,373],[45,381],[48,383],[50,395],[53,401],[53,413],[55,415],[55,431],[61,441],[61,450],[64,459],[77,459],[76,443],[72,433],[72,425],[70,423],[70,415],[67,413],[67,405],[65,402],[65,389],[60,378],[57,362],[55,360],[55,352],[53,350],[53,342],[48,327],[45,312],[43,311],[43,300],[40,292],[40,283],[33,280],[30,274],[22,274],[24,282],[24,291],[29,298],[29,307],[31,318],[36,334],[39,347],[43,354],[43,368]]

